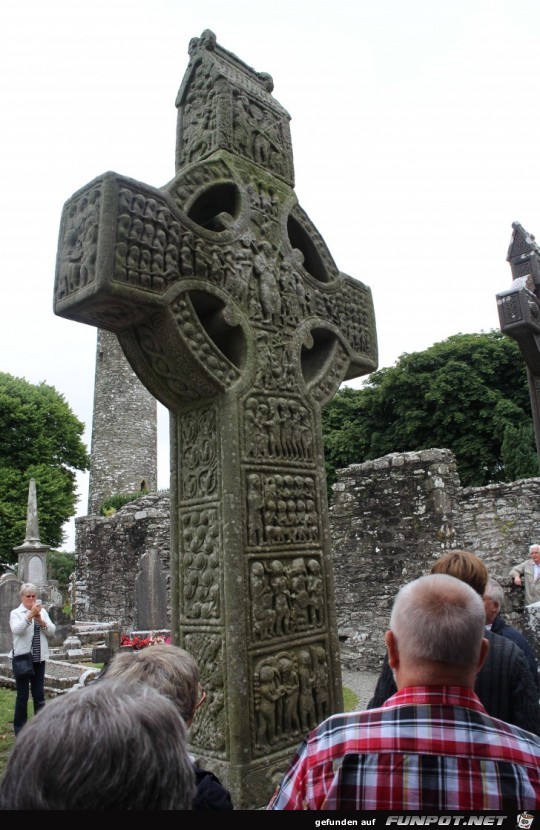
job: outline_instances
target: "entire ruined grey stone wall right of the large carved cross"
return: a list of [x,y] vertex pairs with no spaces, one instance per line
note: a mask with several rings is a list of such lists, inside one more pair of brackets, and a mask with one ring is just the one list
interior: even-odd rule
[[447,449],[338,471],[330,526],[342,665],[378,670],[397,591],[454,548],[482,558],[505,589],[505,619],[524,631],[523,593],[508,573],[540,535],[539,496],[538,478],[462,488]]

